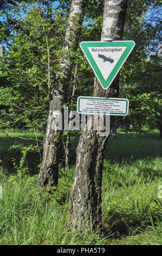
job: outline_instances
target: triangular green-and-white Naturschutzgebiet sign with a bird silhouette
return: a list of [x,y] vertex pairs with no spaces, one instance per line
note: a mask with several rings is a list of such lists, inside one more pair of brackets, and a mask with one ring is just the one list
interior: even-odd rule
[[80,43],[80,47],[103,89],[111,86],[134,45],[134,41]]

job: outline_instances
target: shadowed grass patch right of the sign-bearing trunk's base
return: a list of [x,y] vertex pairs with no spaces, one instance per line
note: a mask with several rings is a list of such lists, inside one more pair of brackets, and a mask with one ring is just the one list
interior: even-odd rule
[[113,239],[140,234],[141,230],[148,226],[157,227],[162,221],[161,207],[159,199],[152,199],[145,206],[132,205],[132,209],[127,210],[114,207],[103,216],[104,230],[107,235],[113,234]]

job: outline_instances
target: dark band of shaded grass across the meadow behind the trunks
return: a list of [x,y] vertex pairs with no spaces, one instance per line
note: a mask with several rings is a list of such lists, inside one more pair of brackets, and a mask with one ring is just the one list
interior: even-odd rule
[[[75,135],[70,143],[69,165],[71,166],[75,165],[76,147],[79,143],[80,135],[81,132]],[[25,138],[23,135],[22,137]],[[33,138],[35,138],[34,135]],[[43,135],[38,136],[38,139],[43,141]],[[32,143],[36,145],[35,141],[0,135],[0,160],[3,168],[7,169],[8,172],[14,172],[12,158],[15,159],[17,165],[20,163],[22,157],[21,151],[16,149],[9,150],[12,145],[22,144],[27,146]],[[41,150],[41,155],[42,154],[43,149]],[[63,159],[62,165],[64,166],[63,155],[64,152],[62,152],[60,158]],[[118,133],[116,139],[108,139],[107,150],[105,153],[106,160],[110,161],[110,163],[116,162],[119,164],[124,162],[133,163],[135,160],[147,159],[148,157],[154,159],[157,156],[162,157],[162,140],[159,139],[159,134],[157,132],[150,132],[142,135],[139,135],[138,133]],[[31,174],[38,173],[40,155],[32,152],[27,153],[26,163]]]

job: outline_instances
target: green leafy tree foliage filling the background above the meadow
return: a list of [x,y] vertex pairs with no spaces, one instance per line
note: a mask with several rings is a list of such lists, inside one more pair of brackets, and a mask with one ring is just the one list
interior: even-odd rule
[[[60,58],[70,1],[2,1],[0,14],[0,126],[44,130],[49,90],[60,72]],[[104,1],[88,1],[80,41],[100,40]],[[129,99],[125,131],[161,123],[161,1],[128,1],[124,40],[135,48],[120,71],[120,96]],[[80,95],[92,95],[94,74],[80,47],[69,51],[73,63],[66,105],[76,109]],[[75,94],[73,95],[73,87]],[[72,96],[73,95],[73,96]]]

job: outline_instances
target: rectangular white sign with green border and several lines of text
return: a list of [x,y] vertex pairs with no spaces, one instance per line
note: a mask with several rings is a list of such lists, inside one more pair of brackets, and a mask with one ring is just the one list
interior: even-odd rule
[[86,97],[77,98],[77,112],[82,114],[127,115],[128,99]]

